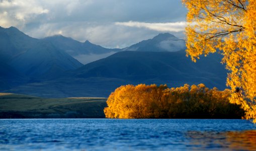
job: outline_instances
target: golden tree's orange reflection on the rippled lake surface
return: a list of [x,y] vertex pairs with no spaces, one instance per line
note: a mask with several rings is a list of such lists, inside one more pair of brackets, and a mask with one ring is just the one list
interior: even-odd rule
[[193,149],[256,150],[256,130],[243,131],[188,131]]

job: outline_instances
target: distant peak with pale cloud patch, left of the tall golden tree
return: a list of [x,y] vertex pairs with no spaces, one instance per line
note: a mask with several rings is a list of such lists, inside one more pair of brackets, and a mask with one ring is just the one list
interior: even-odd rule
[[185,50],[185,40],[179,39],[169,33],[161,33],[152,39],[143,40],[125,48],[126,51],[180,51]]

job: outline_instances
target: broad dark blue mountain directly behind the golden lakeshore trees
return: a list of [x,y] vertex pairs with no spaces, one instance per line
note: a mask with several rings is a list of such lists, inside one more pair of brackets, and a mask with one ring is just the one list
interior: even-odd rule
[[185,51],[140,52],[121,51],[51,81],[35,82],[6,92],[40,97],[108,97],[121,85],[204,83],[207,87],[225,89],[227,71],[220,63],[221,55],[210,54],[196,63],[186,57]]

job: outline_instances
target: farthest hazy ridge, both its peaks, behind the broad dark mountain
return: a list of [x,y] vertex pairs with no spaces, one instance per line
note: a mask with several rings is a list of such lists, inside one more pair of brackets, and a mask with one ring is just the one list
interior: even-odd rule
[[179,39],[169,33],[161,33],[152,39],[141,41],[124,49],[108,49],[100,45],[89,42],[79,42],[72,38],[62,35],[46,37],[44,40],[50,41],[54,46],[65,50],[66,53],[77,59],[83,64],[87,64],[119,51],[180,51],[185,50],[185,40]]

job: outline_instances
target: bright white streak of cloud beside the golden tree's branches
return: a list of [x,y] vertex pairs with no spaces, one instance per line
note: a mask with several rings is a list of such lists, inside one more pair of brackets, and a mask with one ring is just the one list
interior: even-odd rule
[[175,23],[144,23],[144,22],[116,22],[116,25],[147,28],[150,30],[156,30],[161,32],[181,32],[185,30],[186,22]]

